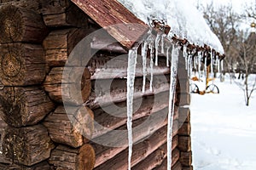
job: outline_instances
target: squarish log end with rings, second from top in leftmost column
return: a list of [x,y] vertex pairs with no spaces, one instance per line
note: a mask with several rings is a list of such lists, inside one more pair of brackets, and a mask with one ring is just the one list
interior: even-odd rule
[[0,82],[4,86],[40,84],[45,77],[44,49],[28,43],[0,44]]

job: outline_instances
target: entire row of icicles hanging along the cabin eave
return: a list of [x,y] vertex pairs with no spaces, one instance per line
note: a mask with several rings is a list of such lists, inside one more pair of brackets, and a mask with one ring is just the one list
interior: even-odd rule
[[[149,50],[150,54],[150,85],[149,90],[152,91],[153,88],[153,70],[154,65],[158,65],[158,53],[166,54],[166,66],[169,65],[169,55],[171,54],[171,75],[170,75],[170,91],[169,91],[169,110],[168,110],[168,126],[167,126],[167,170],[171,170],[172,167],[172,124],[173,124],[173,115],[174,115],[174,95],[176,91],[176,81],[177,81],[177,62],[179,56],[179,49],[181,46],[178,46],[174,42],[172,46],[166,47],[165,44],[166,34],[157,34],[154,36],[151,32],[148,33],[146,40],[141,42],[142,45],[142,58],[143,58],[143,93],[145,92],[146,77],[147,75],[147,54]],[[170,52],[172,49],[172,52]],[[204,59],[204,54],[199,53],[197,55],[192,52],[188,53],[185,45],[183,46],[183,57],[186,61],[186,70],[188,71],[189,77],[192,74],[193,70],[197,70],[198,74],[203,74],[207,71],[206,65],[203,66],[202,60]],[[205,59],[207,62],[207,59]],[[206,63],[205,63],[206,64]],[[137,48],[132,48],[129,50],[128,56],[128,68],[127,68],[127,131],[128,131],[128,170],[131,169],[131,155],[132,155],[132,113],[133,113],[133,92],[134,92],[134,81],[135,81],[135,72],[137,65]],[[223,64],[220,64],[219,59],[213,57],[211,53],[211,71],[213,67],[216,67],[220,71],[220,67],[223,67]],[[212,72],[213,74],[213,72]]]

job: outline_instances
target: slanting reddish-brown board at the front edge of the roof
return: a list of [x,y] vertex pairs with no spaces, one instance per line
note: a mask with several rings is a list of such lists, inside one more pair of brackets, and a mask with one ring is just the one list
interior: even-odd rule
[[[72,0],[85,14],[126,48],[131,48],[148,26],[116,0]],[[129,23],[136,23],[129,25]],[[118,25],[121,24],[121,25]]]

